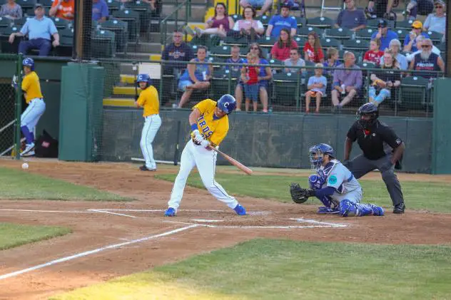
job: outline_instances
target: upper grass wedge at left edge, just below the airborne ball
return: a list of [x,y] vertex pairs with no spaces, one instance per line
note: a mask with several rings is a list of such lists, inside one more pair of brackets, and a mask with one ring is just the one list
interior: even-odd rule
[[130,201],[130,198],[0,167],[0,199]]

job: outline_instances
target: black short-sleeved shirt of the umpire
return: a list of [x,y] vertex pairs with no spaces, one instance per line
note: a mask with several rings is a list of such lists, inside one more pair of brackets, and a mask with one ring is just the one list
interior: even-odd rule
[[384,157],[386,153],[385,145],[395,149],[402,143],[395,131],[379,120],[370,130],[360,129],[358,121],[355,121],[348,131],[348,138],[353,142],[357,140],[360,149],[363,151],[363,156],[367,157],[368,160],[378,160]]

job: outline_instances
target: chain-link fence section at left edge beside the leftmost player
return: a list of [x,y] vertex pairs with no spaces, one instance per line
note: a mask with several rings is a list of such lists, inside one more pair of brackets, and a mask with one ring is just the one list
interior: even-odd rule
[[[17,120],[16,109],[21,109],[22,105],[18,103],[18,100],[22,99],[17,97],[16,89],[12,84],[13,77],[18,74],[21,66],[21,61],[18,62],[18,59],[19,56],[0,54],[0,156],[15,157],[18,149],[15,147],[15,137],[20,121]],[[21,78],[17,78],[16,82],[20,86]]]

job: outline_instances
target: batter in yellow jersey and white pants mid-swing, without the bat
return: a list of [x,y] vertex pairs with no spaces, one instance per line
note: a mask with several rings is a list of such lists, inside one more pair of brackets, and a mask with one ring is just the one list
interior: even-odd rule
[[203,185],[211,195],[239,215],[246,214],[243,206],[227,194],[215,180],[216,152],[208,148],[209,145],[218,147],[228,133],[228,114],[236,108],[236,100],[231,95],[223,95],[218,103],[206,99],[193,107],[189,116],[191,125],[191,140],[183,149],[180,170],[171,192],[171,200],[168,202],[168,210],[165,217],[174,217],[183,197],[186,180],[193,167],[196,166],[201,175]]

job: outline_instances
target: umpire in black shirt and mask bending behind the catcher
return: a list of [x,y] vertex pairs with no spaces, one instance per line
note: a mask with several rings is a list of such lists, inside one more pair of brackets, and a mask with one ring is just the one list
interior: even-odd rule
[[[357,179],[375,169],[380,170],[382,180],[392,198],[393,213],[403,214],[404,198],[400,182],[394,171],[395,167],[400,170],[400,159],[405,150],[404,142],[397,137],[392,128],[377,120],[379,110],[374,103],[365,103],[360,106],[357,117],[358,120],[351,126],[345,140],[343,164],[353,172]],[[363,154],[349,160],[355,140]]]

